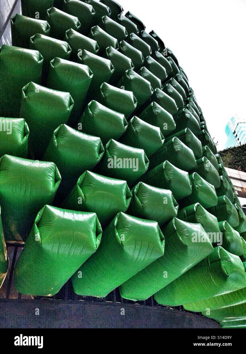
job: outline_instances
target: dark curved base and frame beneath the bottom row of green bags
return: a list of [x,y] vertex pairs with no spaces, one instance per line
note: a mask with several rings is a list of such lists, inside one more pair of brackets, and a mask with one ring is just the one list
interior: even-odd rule
[[[221,328],[201,314],[185,312],[182,306],[161,306],[153,296],[146,301],[133,302],[123,299],[119,289],[105,298],[78,296],[71,280],[52,297],[23,296],[13,284],[14,267],[23,244],[9,242],[7,248],[11,259],[4,283],[6,292],[0,298],[0,327]],[[40,315],[35,315],[37,309]]]

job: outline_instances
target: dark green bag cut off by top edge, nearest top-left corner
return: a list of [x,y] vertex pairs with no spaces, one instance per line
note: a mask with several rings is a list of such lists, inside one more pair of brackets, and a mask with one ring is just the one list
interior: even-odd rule
[[53,6],[54,0],[21,0],[22,15],[45,20],[48,8]]

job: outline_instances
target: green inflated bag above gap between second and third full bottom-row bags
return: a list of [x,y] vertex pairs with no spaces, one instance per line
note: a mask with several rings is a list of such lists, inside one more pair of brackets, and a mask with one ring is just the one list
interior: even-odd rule
[[139,182],[131,193],[128,214],[142,219],[155,220],[160,227],[177,216],[178,204],[170,190]]

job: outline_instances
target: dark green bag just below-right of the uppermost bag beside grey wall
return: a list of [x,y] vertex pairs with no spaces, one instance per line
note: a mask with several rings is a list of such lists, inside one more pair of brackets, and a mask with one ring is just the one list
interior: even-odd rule
[[30,38],[30,48],[38,50],[43,56],[43,84],[46,84],[50,61],[55,57],[68,60],[71,54],[71,48],[67,42],[60,41],[58,39],[51,38],[39,33]]

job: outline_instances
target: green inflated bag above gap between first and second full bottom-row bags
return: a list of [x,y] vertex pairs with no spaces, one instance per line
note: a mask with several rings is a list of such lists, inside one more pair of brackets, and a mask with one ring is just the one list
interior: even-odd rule
[[125,212],[131,201],[126,181],[86,171],[78,179],[62,206],[66,209],[95,212],[105,227],[119,212]]

